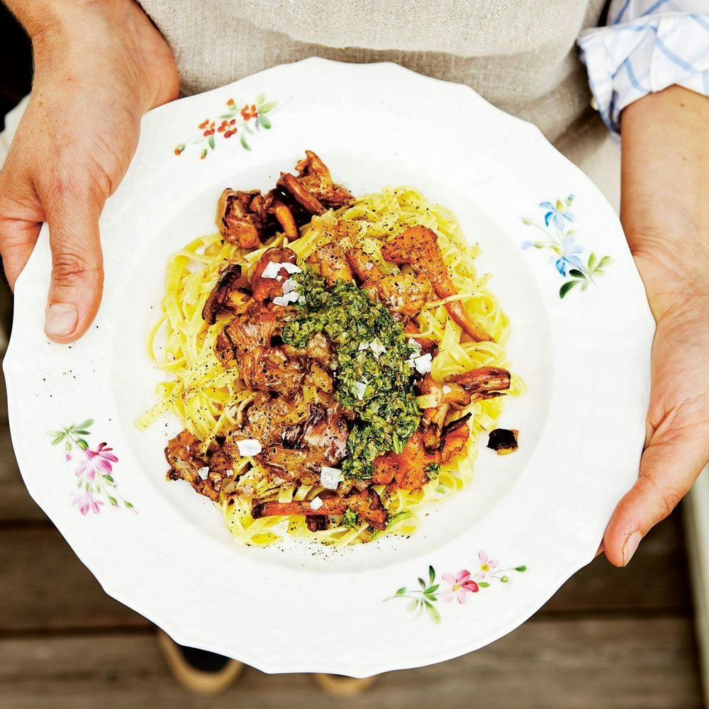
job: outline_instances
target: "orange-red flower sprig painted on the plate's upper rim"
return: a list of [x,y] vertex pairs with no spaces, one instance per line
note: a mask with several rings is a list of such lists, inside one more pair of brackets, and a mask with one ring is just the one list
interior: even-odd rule
[[[232,135],[239,133],[239,143],[244,150],[251,150],[251,147],[246,139],[246,134],[254,135],[255,130],[271,128],[271,121],[267,116],[269,111],[276,108],[276,101],[266,101],[265,94],[259,94],[256,97],[254,104],[244,104],[242,108],[234,99],[229,99],[226,102],[226,110],[219,118],[205,118],[197,125],[197,130],[193,138],[186,140],[175,146],[174,154],[182,155],[189,145],[203,145],[199,153],[200,160],[207,157],[210,150],[216,149],[216,138],[221,136],[224,140],[228,140]],[[206,143],[206,146],[204,146]]]

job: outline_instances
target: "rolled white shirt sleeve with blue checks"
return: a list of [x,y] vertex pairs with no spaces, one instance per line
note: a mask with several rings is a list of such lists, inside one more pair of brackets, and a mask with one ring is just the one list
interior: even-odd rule
[[617,138],[620,111],[671,84],[709,96],[709,0],[613,0],[579,35],[593,106]]

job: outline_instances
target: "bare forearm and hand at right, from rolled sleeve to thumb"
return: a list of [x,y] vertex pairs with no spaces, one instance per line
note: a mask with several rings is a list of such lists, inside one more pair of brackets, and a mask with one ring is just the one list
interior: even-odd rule
[[623,111],[620,218],[657,330],[635,486],[603,550],[624,566],[709,459],[709,98],[671,86]]

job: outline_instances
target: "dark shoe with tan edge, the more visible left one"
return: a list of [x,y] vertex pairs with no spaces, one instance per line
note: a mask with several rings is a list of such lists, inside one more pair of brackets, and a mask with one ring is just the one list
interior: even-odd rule
[[233,684],[244,669],[238,660],[174,642],[162,630],[157,645],[174,678],[193,694],[218,694]]

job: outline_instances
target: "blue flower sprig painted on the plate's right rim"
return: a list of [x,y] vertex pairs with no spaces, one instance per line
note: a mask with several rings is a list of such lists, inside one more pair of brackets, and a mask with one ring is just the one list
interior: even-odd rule
[[544,211],[544,225],[536,223],[529,217],[522,219],[527,226],[537,228],[544,235],[537,241],[523,241],[522,248],[551,252],[549,264],[554,264],[559,275],[567,279],[559,288],[559,298],[564,298],[574,286],[579,284],[582,291],[591,284],[596,285],[596,278],[605,275],[605,267],[613,261],[610,256],[599,258],[591,252],[584,263],[584,247],[574,240],[576,230],[571,229],[575,219],[571,212],[573,203],[573,194],[569,194],[564,201],[557,199],[554,202],[540,202],[540,209]]

